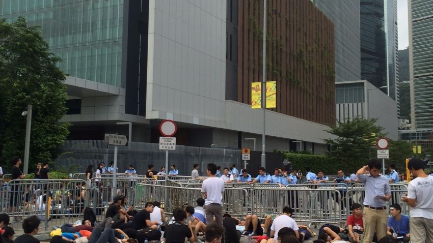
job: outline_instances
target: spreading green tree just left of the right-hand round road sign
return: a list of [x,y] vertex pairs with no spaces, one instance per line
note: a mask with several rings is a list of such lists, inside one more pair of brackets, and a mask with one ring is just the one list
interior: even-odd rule
[[376,139],[386,135],[381,126],[375,125],[376,120],[356,117],[344,123],[337,121],[335,127],[327,130],[336,138],[324,139],[331,147],[327,155],[342,161],[346,171],[365,165],[369,158],[376,157]]

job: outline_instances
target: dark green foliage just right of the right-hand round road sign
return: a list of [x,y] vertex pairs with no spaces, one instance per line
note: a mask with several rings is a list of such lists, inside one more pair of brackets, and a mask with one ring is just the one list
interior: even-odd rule
[[389,140],[389,159],[387,164],[395,164],[399,170],[405,170],[406,158],[412,158],[412,143],[405,140]]

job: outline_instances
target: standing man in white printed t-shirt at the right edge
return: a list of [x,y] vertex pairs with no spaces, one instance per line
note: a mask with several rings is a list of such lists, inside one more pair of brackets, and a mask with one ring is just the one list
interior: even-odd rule
[[416,177],[408,185],[408,196],[402,201],[411,206],[411,242],[433,242],[433,177],[424,172],[424,161],[413,158],[409,171]]

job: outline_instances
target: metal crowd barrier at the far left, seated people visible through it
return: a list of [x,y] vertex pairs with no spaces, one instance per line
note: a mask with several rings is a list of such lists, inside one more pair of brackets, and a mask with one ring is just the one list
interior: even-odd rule
[[11,180],[2,187],[1,211],[8,212],[12,227],[21,231],[22,219],[36,215],[45,230],[67,222],[83,219],[86,181],[56,180]]

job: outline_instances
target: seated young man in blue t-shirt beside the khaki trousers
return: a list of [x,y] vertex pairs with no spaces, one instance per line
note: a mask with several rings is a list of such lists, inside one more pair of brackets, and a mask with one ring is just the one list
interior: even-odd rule
[[408,216],[401,215],[401,207],[399,204],[394,203],[389,206],[389,212],[391,217],[388,219],[388,235],[397,233],[397,240],[399,242],[410,241],[410,220]]

